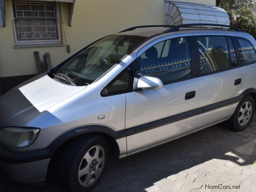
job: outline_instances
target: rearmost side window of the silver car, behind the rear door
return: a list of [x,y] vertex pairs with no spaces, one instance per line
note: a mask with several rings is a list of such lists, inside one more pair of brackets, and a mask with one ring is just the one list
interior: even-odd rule
[[235,37],[241,64],[256,62],[256,52],[250,41],[242,37]]

